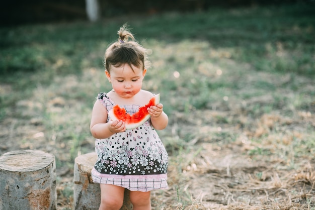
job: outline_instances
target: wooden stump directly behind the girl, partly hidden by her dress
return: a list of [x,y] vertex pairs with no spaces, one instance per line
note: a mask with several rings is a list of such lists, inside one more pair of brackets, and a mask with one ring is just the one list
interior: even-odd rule
[[[75,210],[99,209],[101,203],[100,184],[92,181],[91,171],[97,160],[97,153],[80,155],[74,160],[73,208]],[[120,210],[130,210],[132,204],[129,190],[125,189],[124,203]]]

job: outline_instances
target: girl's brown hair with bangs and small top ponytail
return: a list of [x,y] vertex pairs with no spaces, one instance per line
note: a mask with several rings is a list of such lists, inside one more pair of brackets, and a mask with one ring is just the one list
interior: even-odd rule
[[[137,68],[148,68],[146,49],[138,44],[133,35],[128,31],[127,24],[124,24],[117,32],[119,39],[111,44],[105,52],[105,69],[110,72],[111,66],[119,67],[123,64],[132,65]],[[129,39],[131,39],[129,41]],[[133,69],[132,69],[133,70]]]

